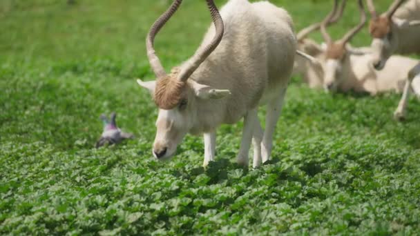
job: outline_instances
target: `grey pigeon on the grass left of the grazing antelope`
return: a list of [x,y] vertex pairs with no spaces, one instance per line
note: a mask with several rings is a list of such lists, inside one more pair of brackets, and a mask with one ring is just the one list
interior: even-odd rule
[[133,138],[132,134],[122,132],[122,130],[117,127],[115,117],[117,117],[115,112],[111,113],[111,120],[108,120],[106,115],[101,115],[100,119],[102,119],[102,122],[104,123],[104,132],[102,132],[101,138],[96,142],[96,148],[104,146],[105,144],[119,144],[124,139]]

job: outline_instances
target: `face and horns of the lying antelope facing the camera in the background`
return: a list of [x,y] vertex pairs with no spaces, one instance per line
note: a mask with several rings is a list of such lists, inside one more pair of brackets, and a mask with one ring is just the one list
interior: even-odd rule
[[363,28],[366,22],[366,13],[363,8],[363,1],[358,1],[359,11],[361,12],[361,19],[359,25],[347,32],[343,38],[338,41],[332,41],[332,38],[326,30],[327,23],[334,16],[337,8],[337,1],[334,2],[334,8],[330,14],[321,23],[321,33],[326,43],[325,50],[325,68],[324,68],[324,88],[325,90],[336,90],[338,84],[341,82],[343,70],[343,63],[346,58],[347,49],[346,44],[356,35],[357,32]]

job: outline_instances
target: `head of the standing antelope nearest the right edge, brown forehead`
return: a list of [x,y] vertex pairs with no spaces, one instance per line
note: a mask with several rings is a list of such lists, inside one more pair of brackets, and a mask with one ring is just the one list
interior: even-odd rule
[[395,0],[387,12],[378,15],[372,0],[367,0],[367,8],[372,16],[369,23],[369,32],[372,40],[373,59],[372,66],[382,70],[386,61],[397,50],[399,35],[395,33],[398,28],[406,27],[402,19],[392,18],[404,0]]

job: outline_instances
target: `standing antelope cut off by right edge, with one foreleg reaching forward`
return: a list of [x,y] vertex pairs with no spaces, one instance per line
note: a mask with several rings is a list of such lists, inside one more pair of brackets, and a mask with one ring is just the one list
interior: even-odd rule
[[[372,15],[369,26],[369,32],[373,38],[372,65],[377,70],[383,69],[394,53],[420,54],[420,0],[409,0],[404,5],[403,3],[403,0],[396,0],[387,12],[378,15],[373,1],[367,0],[367,6]],[[420,63],[408,72],[403,96],[394,112],[394,117],[397,119],[405,117],[410,86],[415,78],[420,78]]]

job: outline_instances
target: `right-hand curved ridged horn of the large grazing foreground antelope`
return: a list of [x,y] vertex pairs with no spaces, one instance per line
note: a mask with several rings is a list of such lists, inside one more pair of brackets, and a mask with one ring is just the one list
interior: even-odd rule
[[186,62],[186,66],[182,68],[180,74],[178,75],[178,79],[180,81],[187,81],[187,79],[193,74],[193,72],[200,66],[200,64],[216,49],[219,45],[220,41],[222,41],[224,26],[223,20],[220,16],[218,8],[214,4],[213,0],[206,0],[207,7],[210,10],[211,19],[213,19],[214,26],[216,27],[216,35],[213,37],[209,45],[207,45],[202,50],[198,50],[195,52],[193,57]]

